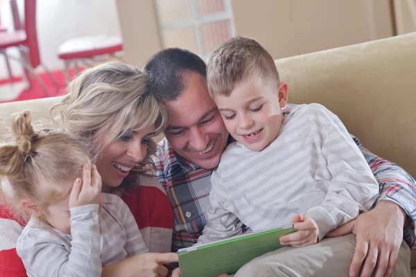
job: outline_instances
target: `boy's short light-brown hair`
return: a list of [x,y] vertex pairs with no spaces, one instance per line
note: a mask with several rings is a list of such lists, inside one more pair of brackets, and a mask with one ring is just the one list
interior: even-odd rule
[[229,96],[248,80],[279,85],[279,73],[272,56],[250,37],[232,37],[220,44],[207,61],[207,84],[211,95]]

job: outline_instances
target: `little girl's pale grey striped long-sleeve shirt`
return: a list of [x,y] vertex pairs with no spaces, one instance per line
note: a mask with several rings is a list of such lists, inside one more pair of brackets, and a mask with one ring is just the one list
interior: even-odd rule
[[97,204],[71,208],[71,235],[32,218],[17,240],[28,276],[101,276],[105,265],[146,253],[135,218],[116,195]]

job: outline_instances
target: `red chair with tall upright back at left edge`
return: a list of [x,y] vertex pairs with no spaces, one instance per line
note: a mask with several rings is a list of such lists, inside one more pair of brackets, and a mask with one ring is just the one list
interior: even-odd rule
[[[41,78],[35,73],[37,66],[43,66],[49,78],[53,81],[53,84],[58,89],[58,82],[56,82],[53,75],[50,73],[44,64],[40,62],[39,45],[37,44],[37,31],[36,31],[36,0],[24,0],[24,24],[21,28],[19,22],[19,12],[17,11],[17,4],[15,0],[10,1],[13,19],[15,21],[15,31],[12,33],[0,33],[0,53],[3,54],[6,59],[17,60],[20,62],[26,71],[29,71],[31,75],[37,80],[46,96],[50,96],[49,91]],[[21,50],[21,53],[26,54],[26,57],[12,57],[6,54],[6,49],[10,47],[17,47]],[[26,73],[25,73],[26,75]],[[32,85],[31,78],[26,75],[26,79],[29,86]]]

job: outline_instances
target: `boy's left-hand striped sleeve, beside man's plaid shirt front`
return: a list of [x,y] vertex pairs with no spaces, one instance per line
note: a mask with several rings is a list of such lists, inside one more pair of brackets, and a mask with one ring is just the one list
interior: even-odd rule
[[217,195],[218,185],[221,186],[221,179],[214,170],[211,175],[211,193],[209,195],[209,206],[207,208],[207,225],[202,235],[198,238],[198,244],[223,240],[234,235],[243,233],[243,223],[236,215],[229,211],[222,197]]

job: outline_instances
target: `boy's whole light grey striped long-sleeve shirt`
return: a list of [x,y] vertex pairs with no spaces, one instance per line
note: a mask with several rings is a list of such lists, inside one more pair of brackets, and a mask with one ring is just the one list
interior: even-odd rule
[[211,176],[208,223],[198,242],[287,225],[296,214],[318,225],[318,239],[368,211],[379,187],[337,116],[297,106],[261,151],[232,143]]

